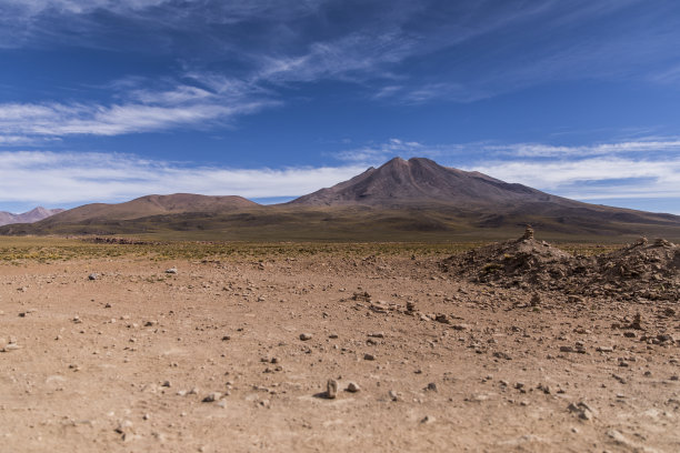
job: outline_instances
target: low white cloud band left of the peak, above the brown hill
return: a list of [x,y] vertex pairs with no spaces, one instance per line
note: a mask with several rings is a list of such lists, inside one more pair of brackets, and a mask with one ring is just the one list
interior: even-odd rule
[[120,202],[177,192],[246,198],[297,197],[344,181],[363,167],[229,169],[129,154],[0,152],[2,202]]

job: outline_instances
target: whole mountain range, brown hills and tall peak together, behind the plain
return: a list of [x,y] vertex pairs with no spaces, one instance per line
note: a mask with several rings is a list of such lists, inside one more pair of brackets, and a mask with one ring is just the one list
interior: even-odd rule
[[156,234],[232,240],[441,241],[504,238],[531,224],[543,238],[680,240],[680,217],[582,203],[429,159],[380,168],[291,202],[149,195],[87,204],[0,234]]

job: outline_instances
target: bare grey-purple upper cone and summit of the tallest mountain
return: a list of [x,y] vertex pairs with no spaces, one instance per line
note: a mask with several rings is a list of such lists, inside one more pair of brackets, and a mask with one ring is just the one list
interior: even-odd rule
[[300,197],[291,204],[310,207],[364,204],[398,208],[437,203],[460,208],[564,202],[567,199],[509,184],[479,172],[467,172],[424,158],[394,158],[380,168],[370,168],[349,181]]

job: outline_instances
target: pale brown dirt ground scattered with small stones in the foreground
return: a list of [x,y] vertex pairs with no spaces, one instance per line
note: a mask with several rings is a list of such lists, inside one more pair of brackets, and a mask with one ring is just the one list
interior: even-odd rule
[[0,264],[0,451],[680,451],[677,300],[439,262]]

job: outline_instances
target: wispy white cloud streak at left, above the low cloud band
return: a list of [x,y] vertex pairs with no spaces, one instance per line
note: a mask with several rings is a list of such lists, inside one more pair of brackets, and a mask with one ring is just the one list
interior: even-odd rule
[[[64,135],[119,135],[163,131],[177,127],[207,128],[234,117],[257,112],[278,102],[262,90],[239,81],[208,74],[191,74],[194,84],[167,90],[121,83],[119,101],[106,103],[3,103],[0,104],[0,145],[22,138]],[[202,83],[204,88],[196,85]]]

